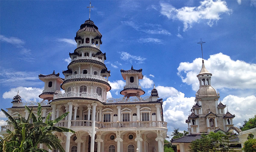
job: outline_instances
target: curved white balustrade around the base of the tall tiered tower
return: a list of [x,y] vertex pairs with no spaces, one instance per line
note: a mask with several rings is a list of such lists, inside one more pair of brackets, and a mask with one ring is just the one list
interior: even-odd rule
[[83,97],[83,98],[98,99],[99,101],[102,101],[102,97],[98,95],[96,92],[91,94],[88,92],[74,92],[74,91],[70,91],[64,94],[62,93],[54,94],[53,99],[66,98],[66,97]]

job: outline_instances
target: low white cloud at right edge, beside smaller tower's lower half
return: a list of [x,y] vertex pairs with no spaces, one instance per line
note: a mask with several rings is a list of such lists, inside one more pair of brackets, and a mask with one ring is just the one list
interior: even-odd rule
[[[256,97],[250,95],[248,97],[238,97],[235,95],[228,95],[222,101],[223,104],[227,104],[229,112],[235,114],[236,117],[233,123],[236,127],[241,126],[241,123],[246,119],[254,117],[256,108]],[[227,110],[227,108],[225,108]]]

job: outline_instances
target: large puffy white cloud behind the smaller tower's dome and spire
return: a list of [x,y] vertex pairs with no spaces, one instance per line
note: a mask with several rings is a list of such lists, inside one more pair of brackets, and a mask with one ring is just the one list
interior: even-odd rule
[[[204,62],[206,69],[212,73],[214,79],[211,79],[211,85],[215,89],[256,88],[256,64],[249,64],[241,60],[235,61],[222,53],[210,55],[210,58]],[[192,85],[194,91],[197,91],[199,82],[196,75],[201,68],[202,58],[196,58],[192,63],[181,62],[178,67],[178,76],[184,83]]]

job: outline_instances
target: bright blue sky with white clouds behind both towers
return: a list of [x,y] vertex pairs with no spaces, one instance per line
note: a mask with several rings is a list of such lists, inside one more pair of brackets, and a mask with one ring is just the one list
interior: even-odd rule
[[[55,70],[64,78],[76,32],[89,18],[86,6],[89,1],[1,1],[1,108],[12,106],[17,90],[24,102],[40,101],[44,83],[38,74]],[[255,1],[98,0],[92,6],[91,20],[103,35],[101,50],[111,70],[109,97],[121,97],[120,69],[142,68],[141,86],[149,95],[156,84],[169,132],[186,130],[185,118],[199,88],[197,42],[202,38],[212,87],[236,115],[234,124],[256,114]]]

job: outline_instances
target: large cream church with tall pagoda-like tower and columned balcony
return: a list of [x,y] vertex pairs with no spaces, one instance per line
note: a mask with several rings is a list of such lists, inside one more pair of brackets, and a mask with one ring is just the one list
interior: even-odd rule
[[[51,120],[54,120],[69,112],[56,125],[76,133],[54,133],[66,152],[135,152],[136,148],[139,152],[163,152],[167,123],[163,121],[163,101],[158,91],[154,87],[150,96],[141,97],[145,94],[139,86],[142,69],[132,66],[128,70],[121,69],[126,81],[120,92],[123,97],[107,99],[107,92],[111,90],[110,71],[104,64],[106,54],[100,50],[101,38],[94,22],[85,21],[76,32],[77,48],[69,53],[71,62],[62,72],[64,78],[55,71],[38,76],[45,83],[39,95],[43,99],[43,117],[52,112]],[[13,98],[13,106],[7,110],[14,118],[19,114],[27,118],[28,111],[20,95]],[[36,103],[27,106],[36,111]],[[1,126],[0,134],[6,136],[7,129],[13,127]],[[48,150],[43,144],[38,146]]]

